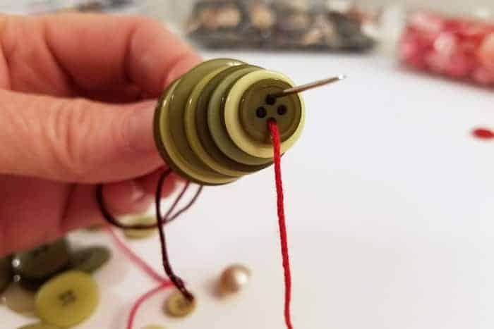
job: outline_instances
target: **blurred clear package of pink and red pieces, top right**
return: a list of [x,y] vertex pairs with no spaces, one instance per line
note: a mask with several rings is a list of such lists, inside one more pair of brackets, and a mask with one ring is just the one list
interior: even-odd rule
[[414,13],[399,42],[399,59],[418,70],[494,87],[494,22]]

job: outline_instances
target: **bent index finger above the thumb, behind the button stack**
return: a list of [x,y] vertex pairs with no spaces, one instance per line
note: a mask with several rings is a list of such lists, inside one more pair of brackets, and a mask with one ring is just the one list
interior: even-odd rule
[[[121,85],[158,97],[200,61],[179,37],[145,18],[4,16],[0,25],[0,87],[21,92],[72,97]],[[2,72],[8,80],[1,79]]]

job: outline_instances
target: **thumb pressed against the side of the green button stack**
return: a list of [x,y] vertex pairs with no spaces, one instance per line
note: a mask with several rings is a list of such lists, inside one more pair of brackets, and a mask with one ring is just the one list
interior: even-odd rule
[[110,105],[0,91],[0,174],[112,182],[163,165],[152,135],[155,102]]

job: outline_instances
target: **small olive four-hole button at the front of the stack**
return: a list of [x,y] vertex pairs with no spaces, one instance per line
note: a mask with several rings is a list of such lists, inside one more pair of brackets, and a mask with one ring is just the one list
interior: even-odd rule
[[240,103],[240,121],[243,130],[257,142],[271,145],[267,120],[275,119],[279,137],[284,142],[294,135],[302,119],[300,98],[291,94],[278,99],[270,95],[291,88],[282,80],[260,80],[249,87]]

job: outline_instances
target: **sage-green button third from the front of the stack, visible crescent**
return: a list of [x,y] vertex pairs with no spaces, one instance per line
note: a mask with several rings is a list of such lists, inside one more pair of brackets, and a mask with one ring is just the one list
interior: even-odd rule
[[219,83],[215,92],[213,92],[207,109],[207,125],[209,126],[212,138],[215,140],[217,147],[234,161],[251,166],[263,165],[270,163],[272,160],[269,159],[269,157],[247,154],[240,149],[238,145],[234,144],[224,126],[224,115],[222,111],[224,111],[225,95],[228,94],[231,86],[233,86],[237,80],[241,79],[241,77],[255,72],[264,72],[264,70],[259,70],[259,68],[255,67],[243,68],[225,77],[224,80]]

